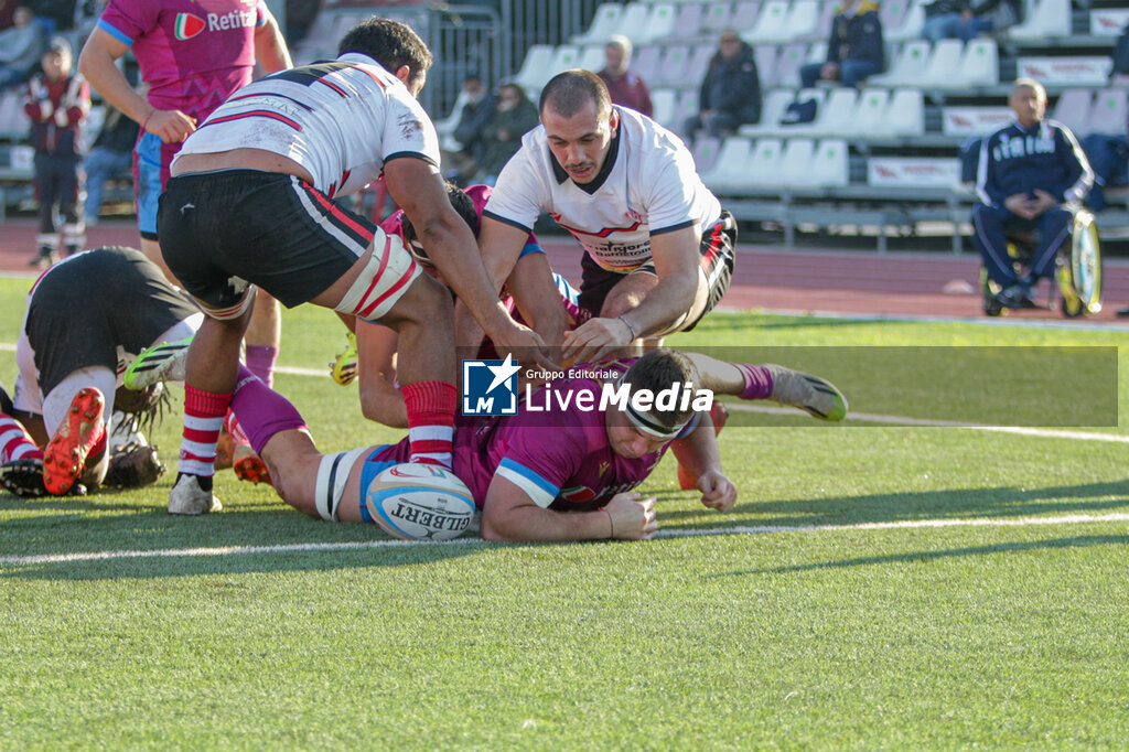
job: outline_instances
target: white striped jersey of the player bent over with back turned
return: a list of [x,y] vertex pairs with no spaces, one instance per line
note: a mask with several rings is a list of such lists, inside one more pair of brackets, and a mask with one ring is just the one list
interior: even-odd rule
[[294,159],[331,198],[359,191],[399,157],[439,165],[439,137],[423,107],[400,79],[358,53],[279,71],[238,89],[177,157],[240,148]]

